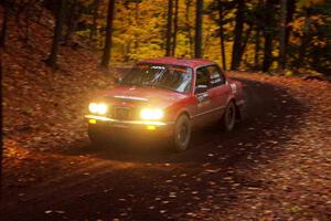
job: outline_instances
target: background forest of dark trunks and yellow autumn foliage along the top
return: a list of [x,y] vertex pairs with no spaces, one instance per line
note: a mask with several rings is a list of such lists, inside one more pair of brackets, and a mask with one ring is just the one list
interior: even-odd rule
[[[45,59],[57,65],[58,45],[74,42],[103,51],[104,67],[157,56],[203,57],[223,70],[323,74],[331,70],[328,0],[40,0],[4,1],[9,13],[40,21],[56,18]],[[25,13],[26,12],[26,13]],[[24,18],[20,18],[24,13]],[[6,22],[1,44],[6,43]]]

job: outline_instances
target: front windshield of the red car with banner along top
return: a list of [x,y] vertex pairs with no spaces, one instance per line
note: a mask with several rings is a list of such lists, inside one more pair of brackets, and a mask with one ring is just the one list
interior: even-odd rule
[[192,69],[179,65],[136,65],[122,80],[124,85],[158,87],[181,93],[191,91]]

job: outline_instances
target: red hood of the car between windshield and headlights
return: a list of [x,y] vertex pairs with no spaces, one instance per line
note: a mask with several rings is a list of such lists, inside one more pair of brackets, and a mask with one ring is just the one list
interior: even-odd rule
[[179,99],[188,97],[186,94],[160,88],[141,88],[136,86],[117,86],[109,91],[100,92],[103,99],[120,103],[146,106],[158,106],[164,108]]

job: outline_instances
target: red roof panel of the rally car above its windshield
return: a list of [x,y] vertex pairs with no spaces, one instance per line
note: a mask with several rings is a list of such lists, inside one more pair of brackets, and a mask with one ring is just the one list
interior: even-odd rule
[[189,67],[197,67],[203,65],[215,64],[215,62],[204,59],[182,59],[182,57],[159,57],[159,59],[147,59],[142,60],[139,63],[152,63],[152,64],[171,64],[171,65],[181,65]]

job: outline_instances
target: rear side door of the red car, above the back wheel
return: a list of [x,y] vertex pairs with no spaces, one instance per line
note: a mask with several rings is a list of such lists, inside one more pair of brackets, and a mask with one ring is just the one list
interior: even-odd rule
[[226,83],[223,72],[216,64],[206,66],[206,71],[210,76],[209,95],[212,109],[214,110],[214,117],[221,118],[228,96],[231,95],[231,87]]

